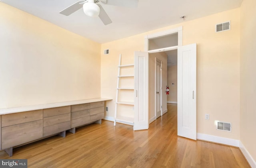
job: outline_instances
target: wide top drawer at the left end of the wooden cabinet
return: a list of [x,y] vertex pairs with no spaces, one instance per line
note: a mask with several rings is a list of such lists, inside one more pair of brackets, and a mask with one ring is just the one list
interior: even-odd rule
[[16,124],[42,120],[42,119],[43,119],[42,110],[33,110],[28,112],[4,114],[2,115],[2,127],[12,126]]

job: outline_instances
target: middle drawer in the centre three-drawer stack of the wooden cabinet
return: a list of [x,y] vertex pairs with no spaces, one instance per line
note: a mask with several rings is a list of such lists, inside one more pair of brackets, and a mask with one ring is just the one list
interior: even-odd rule
[[70,121],[70,113],[44,118],[44,127]]

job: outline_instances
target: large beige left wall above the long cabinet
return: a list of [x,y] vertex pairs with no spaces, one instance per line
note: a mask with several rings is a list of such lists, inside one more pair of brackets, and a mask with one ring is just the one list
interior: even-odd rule
[[0,3],[0,108],[100,97],[100,44]]

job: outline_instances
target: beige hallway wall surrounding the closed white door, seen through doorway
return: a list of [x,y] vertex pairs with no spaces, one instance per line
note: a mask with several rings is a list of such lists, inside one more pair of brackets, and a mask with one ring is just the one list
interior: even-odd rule
[[155,114],[155,58],[162,61],[162,110],[167,110],[167,96],[164,86],[167,84],[167,55],[164,52],[149,54],[149,120],[154,121]]

